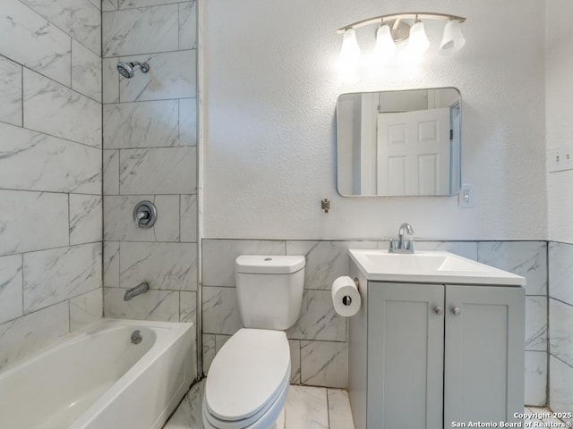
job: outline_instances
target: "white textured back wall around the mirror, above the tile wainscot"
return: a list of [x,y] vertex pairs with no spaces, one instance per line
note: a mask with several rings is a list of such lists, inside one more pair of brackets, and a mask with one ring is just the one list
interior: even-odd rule
[[[336,29],[411,10],[467,17],[467,43],[342,81]],[[544,2],[208,1],[204,35],[204,233],[228,238],[374,238],[412,223],[424,239],[545,239]],[[373,45],[374,27],[357,30]],[[462,180],[453,198],[342,198],[335,185],[335,104],[346,92],[455,86],[463,105]],[[331,211],[321,212],[329,198]]]

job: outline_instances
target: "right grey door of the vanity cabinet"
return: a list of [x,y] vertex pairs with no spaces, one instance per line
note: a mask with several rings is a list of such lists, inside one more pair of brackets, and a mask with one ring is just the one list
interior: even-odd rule
[[524,407],[525,291],[446,285],[444,427],[515,422]]

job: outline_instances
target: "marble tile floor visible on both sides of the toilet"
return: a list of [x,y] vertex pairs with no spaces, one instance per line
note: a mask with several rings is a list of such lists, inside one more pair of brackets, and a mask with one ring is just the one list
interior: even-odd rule
[[[203,429],[201,399],[205,381],[195,384],[163,429]],[[341,389],[290,386],[285,424],[277,429],[354,429],[348,393]],[[280,420],[280,417],[279,417]]]

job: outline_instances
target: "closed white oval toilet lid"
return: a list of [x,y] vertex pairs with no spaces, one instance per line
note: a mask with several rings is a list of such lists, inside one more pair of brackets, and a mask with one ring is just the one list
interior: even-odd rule
[[213,416],[248,418],[274,398],[290,374],[290,351],[282,331],[241,329],[213,360],[205,400]]

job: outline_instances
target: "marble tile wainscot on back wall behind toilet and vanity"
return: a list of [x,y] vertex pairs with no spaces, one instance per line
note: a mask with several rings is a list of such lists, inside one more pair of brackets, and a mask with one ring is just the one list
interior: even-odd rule
[[[526,277],[526,403],[544,405],[547,388],[547,242],[418,241],[419,250],[447,250]],[[388,248],[388,241],[202,240],[203,360],[207,371],[218,349],[241,326],[235,292],[235,257],[304,255],[303,308],[286,333],[291,383],[347,386],[346,319],[335,314],[330,286],[348,272],[348,248]]]

